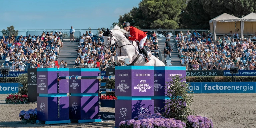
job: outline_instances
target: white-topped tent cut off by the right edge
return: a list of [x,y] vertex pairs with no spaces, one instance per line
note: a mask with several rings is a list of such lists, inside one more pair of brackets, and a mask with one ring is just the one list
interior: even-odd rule
[[243,33],[254,33],[256,30],[256,14],[250,13],[241,18],[241,37],[243,37]]

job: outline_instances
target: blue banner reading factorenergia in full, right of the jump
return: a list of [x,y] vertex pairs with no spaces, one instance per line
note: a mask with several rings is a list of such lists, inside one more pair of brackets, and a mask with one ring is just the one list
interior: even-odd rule
[[256,82],[188,82],[193,93],[256,93]]

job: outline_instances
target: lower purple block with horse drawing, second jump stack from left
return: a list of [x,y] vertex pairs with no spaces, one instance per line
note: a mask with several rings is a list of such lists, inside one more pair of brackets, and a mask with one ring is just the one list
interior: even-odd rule
[[70,96],[69,113],[72,120],[100,119],[99,96]]

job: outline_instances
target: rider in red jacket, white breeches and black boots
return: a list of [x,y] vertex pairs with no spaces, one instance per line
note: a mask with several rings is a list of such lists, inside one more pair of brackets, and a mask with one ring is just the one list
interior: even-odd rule
[[129,22],[124,22],[123,23],[123,29],[125,31],[129,32],[130,36],[125,34],[125,37],[128,40],[133,40],[133,41],[136,41],[136,42],[140,43],[140,48],[142,50],[142,53],[145,55],[145,62],[149,62],[150,57],[147,54],[146,48],[144,48],[144,43],[147,39],[147,34],[143,31],[131,26]]

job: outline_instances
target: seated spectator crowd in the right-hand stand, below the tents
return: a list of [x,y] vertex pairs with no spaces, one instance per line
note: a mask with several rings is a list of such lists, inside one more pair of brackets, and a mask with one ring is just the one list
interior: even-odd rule
[[210,33],[187,31],[175,36],[181,64],[187,70],[256,70],[256,33],[253,39],[239,38],[237,32],[213,40]]

